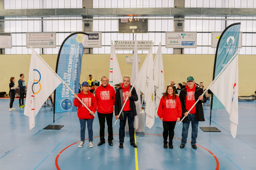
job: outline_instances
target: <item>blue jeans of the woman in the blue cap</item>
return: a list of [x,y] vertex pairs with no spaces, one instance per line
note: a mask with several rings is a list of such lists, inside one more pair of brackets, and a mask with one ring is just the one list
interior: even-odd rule
[[86,122],[87,122],[87,129],[88,129],[88,136],[89,136],[89,142],[92,141],[92,123],[93,119],[79,119],[80,121],[80,133],[81,133],[81,141],[85,142],[85,127],[86,127]]

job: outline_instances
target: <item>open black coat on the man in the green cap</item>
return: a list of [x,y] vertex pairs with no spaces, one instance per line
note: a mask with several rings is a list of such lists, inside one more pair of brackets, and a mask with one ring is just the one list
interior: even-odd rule
[[[198,99],[198,97],[200,95],[202,95],[203,93],[203,89],[196,87],[195,89],[195,101]],[[181,106],[182,106],[182,118],[184,117],[184,113],[188,112],[188,110],[186,110],[186,97],[187,97],[187,89],[186,87],[184,89],[182,89],[179,93],[179,99],[181,102]],[[202,103],[206,103],[206,97],[205,95],[203,96],[203,100],[202,101],[198,101],[196,103],[196,113],[195,113],[195,121],[205,121],[205,117],[204,117],[204,110],[203,110],[203,106]],[[188,122],[188,117],[186,117],[183,122]]]

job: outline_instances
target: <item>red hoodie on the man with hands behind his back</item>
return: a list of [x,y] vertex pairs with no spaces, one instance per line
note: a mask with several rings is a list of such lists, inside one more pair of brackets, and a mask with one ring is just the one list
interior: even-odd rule
[[106,87],[98,87],[95,91],[95,98],[98,105],[97,112],[100,113],[113,113],[115,104],[115,89],[108,84]]

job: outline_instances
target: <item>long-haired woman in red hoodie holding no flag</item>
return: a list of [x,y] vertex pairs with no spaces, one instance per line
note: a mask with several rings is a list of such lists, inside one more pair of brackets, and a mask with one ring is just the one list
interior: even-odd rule
[[163,120],[164,148],[168,148],[167,137],[169,134],[169,148],[172,149],[175,124],[176,121],[179,122],[182,116],[180,99],[175,95],[173,85],[167,86],[167,90],[160,100],[157,115],[160,117],[160,120]]

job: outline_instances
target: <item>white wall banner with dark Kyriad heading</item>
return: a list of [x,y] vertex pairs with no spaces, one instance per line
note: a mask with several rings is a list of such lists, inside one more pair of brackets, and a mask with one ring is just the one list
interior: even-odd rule
[[[85,48],[101,48],[102,47],[102,32],[101,31],[83,31],[89,34],[86,42]],[[71,32],[75,33],[75,32]]]

